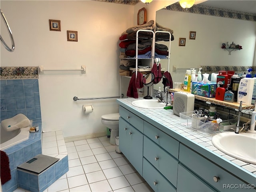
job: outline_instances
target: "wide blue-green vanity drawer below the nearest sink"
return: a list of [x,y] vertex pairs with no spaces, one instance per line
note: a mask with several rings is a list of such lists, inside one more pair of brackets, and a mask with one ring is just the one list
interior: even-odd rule
[[[220,191],[237,191],[241,192],[242,188],[228,188],[227,186],[247,186],[242,180],[236,178],[229,172],[226,172],[221,167],[210,162],[198,153],[190,150],[183,144],[180,144],[179,160],[182,164],[187,166],[192,172],[197,174],[200,178],[210,184],[212,187]],[[214,181],[216,180],[216,182]],[[226,186],[226,187],[225,187]],[[254,191],[252,188],[246,191]]]

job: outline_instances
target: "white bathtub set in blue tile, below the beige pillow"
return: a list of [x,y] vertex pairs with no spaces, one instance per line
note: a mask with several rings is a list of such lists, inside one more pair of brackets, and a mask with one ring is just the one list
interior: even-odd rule
[[8,132],[0,126],[0,150],[4,150],[27,140],[29,137],[29,130],[30,126]]

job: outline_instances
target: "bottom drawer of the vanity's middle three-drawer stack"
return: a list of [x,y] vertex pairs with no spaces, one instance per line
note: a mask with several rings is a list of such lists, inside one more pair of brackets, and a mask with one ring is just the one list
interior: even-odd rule
[[145,158],[143,158],[143,178],[155,192],[176,192],[170,184]]

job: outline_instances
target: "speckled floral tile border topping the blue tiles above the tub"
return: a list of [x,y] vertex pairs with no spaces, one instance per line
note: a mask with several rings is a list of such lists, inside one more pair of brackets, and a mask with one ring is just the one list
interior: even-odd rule
[[0,79],[38,79],[37,67],[0,67]]

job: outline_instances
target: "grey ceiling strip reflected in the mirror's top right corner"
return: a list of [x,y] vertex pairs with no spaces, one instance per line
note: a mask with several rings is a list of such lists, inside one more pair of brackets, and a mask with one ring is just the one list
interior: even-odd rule
[[208,0],[199,3],[200,1],[202,0],[198,0],[196,4],[256,14],[256,0]]

